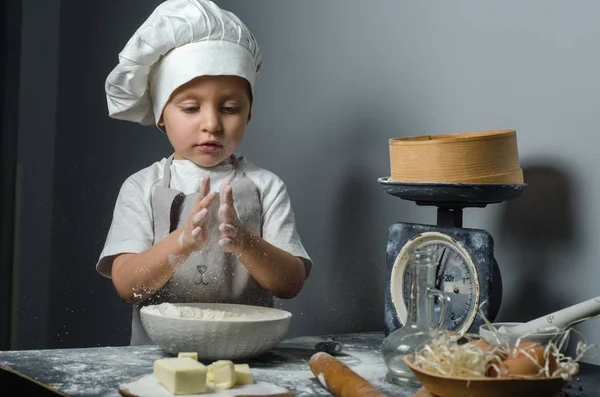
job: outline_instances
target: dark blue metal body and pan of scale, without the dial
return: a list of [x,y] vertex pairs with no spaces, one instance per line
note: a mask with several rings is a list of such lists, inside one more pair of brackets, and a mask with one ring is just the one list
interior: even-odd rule
[[[460,241],[463,248],[473,256],[482,283],[481,298],[486,302],[481,310],[489,321],[493,321],[500,310],[502,299],[502,277],[493,255],[494,241],[484,230],[463,228],[463,209],[484,208],[488,204],[517,198],[527,184],[400,182],[387,177],[377,181],[392,196],[413,201],[419,206],[438,207],[437,225],[397,223],[390,227],[386,260],[385,334],[388,335],[401,326],[390,296],[391,269],[396,256],[411,238],[428,231],[450,235]],[[481,303],[483,302],[480,305]],[[482,323],[483,319],[478,316],[469,332],[478,333],[478,327]]]

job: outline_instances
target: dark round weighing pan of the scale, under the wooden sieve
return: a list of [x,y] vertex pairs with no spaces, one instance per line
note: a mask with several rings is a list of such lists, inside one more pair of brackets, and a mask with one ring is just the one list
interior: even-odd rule
[[470,184],[443,182],[401,182],[387,177],[378,178],[386,193],[417,205],[438,207],[485,207],[519,197],[526,183],[521,184]]

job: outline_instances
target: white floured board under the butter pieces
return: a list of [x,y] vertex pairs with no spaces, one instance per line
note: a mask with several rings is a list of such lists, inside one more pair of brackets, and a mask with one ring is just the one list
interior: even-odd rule
[[[266,382],[255,382],[250,385],[235,386],[228,390],[213,390],[212,382],[207,382],[206,393],[181,394],[178,397],[235,397],[239,395],[265,395],[287,393],[283,387]],[[127,397],[173,397],[174,394],[165,389],[153,374],[126,381],[119,385],[119,392]]]

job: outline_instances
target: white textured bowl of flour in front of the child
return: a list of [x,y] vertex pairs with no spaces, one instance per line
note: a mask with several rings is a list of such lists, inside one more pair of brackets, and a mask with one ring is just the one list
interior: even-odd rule
[[149,305],[140,316],[154,343],[173,355],[196,352],[198,360],[207,361],[240,360],[268,351],[283,339],[292,318],[285,310],[226,303]]

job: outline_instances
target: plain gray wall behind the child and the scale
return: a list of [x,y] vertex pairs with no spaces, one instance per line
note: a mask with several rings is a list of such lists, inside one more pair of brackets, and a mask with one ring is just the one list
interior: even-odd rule
[[[158,3],[23,1],[16,348],[127,344],[130,309],[94,265],[121,183],[170,148],[153,127],[109,119],[103,84]],[[527,191],[464,219],[496,240],[498,320],[600,295],[600,3],[218,4],[265,61],[240,154],[286,182],[315,263],[278,303],[290,335],[383,329],[387,228],[435,222],[377,183],[388,139],[405,135],[517,130]],[[577,329],[600,344],[598,320]]]

